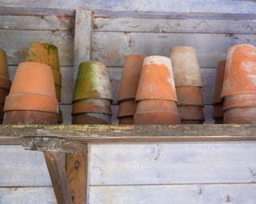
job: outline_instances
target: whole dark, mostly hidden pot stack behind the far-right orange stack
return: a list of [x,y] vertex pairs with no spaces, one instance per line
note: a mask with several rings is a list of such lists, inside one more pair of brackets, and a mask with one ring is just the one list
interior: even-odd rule
[[223,77],[225,73],[226,60],[218,62],[218,69],[214,87],[214,123],[223,124],[223,99],[221,97]]

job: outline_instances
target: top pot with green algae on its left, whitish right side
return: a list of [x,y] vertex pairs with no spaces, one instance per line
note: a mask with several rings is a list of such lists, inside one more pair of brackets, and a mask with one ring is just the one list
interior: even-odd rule
[[106,66],[99,61],[86,61],[79,65],[73,101],[83,99],[112,100],[110,77]]

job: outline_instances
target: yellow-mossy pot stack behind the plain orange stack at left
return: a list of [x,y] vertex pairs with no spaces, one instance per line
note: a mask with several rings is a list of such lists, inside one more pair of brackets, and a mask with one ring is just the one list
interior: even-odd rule
[[[62,74],[58,59],[58,47],[44,41],[30,43],[25,61],[39,62],[49,65],[54,75],[54,87],[58,102],[62,100]],[[58,124],[62,124],[62,111],[58,112]]]

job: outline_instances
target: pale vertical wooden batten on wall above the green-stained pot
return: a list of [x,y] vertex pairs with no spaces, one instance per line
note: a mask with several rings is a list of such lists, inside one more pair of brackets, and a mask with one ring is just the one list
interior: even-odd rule
[[92,11],[76,10],[74,30],[74,81],[77,78],[78,66],[83,61],[90,61],[92,36]]

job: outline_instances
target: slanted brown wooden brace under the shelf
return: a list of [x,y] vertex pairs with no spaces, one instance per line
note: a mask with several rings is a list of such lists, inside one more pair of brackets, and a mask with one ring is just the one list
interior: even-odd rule
[[45,151],[44,153],[50,179],[54,187],[54,194],[58,203],[72,204],[68,186],[65,161],[61,152]]

